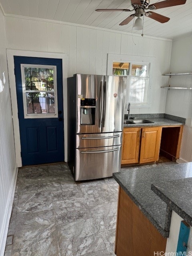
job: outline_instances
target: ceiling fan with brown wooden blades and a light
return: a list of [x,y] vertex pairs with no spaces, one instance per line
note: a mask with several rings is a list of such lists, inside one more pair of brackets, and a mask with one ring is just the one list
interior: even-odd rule
[[[128,24],[133,18],[134,16],[138,17],[138,22],[136,20],[137,23],[139,24],[134,24],[135,27],[138,26],[139,29],[141,27],[142,24],[142,20],[140,19],[140,17],[142,17],[143,15],[152,18],[153,20],[156,20],[158,22],[164,23],[164,22],[168,22],[170,20],[170,18],[163,16],[161,14],[152,12],[151,10],[156,10],[156,9],[160,9],[160,8],[165,8],[165,7],[170,7],[170,6],[176,6],[176,5],[180,5],[180,4],[185,4],[186,0],[166,0],[166,1],[162,1],[162,2],[158,2],[155,4],[150,4],[150,0],[131,0],[131,5],[133,6],[133,10],[129,10],[129,9],[96,9],[97,12],[113,12],[113,11],[122,11],[122,12],[132,12],[135,11],[134,14],[131,14],[128,18],[126,18],[125,20],[123,20],[119,25],[126,25]],[[150,10],[149,12],[146,12],[146,10]],[[138,28],[136,28],[137,30],[139,30]]]

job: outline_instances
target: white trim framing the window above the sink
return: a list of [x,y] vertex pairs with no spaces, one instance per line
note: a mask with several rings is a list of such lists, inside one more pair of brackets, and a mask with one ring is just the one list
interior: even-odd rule
[[[136,55],[125,55],[125,54],[108,54],[108,61],[107,61],[107,75],[112,76],[113,72],[113,62],[131,62],[132,64],[149,64],[148,74],[150,74],[149,84],[148,84],[148,101],[147,104],[132,104],[133,108],[150,108],[152,106],[152,81],[154,79],[154,60],[155,57],[150,56],[136,56]],[[143,76],[134,76],[138,78],[143,78]],[[127,89],[127,91],[129,91]],[[126,97],[126,104],[128,104],[129,99]]]

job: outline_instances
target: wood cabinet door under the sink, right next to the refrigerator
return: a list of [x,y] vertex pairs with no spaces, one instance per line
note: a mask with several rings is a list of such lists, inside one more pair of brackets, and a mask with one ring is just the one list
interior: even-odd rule
[[124,128],[121,164],[133,164],[139,161],[141,128]]

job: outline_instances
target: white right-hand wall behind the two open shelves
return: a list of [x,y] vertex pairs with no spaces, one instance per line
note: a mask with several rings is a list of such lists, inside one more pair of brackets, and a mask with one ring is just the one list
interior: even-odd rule
[[[192,35],[172,43],[170,72],[192,72]],[[168,84],[192,87],[192,76],[172,76]],[[183,162],[192,161],[192,90],[168,90],[165,113],[186,118],[180,158]]]

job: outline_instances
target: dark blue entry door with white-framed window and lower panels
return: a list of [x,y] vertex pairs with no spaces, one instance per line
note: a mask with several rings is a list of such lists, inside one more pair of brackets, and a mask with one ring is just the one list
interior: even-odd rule
[[14,56],[22,166],[64,161],[62,60]]

